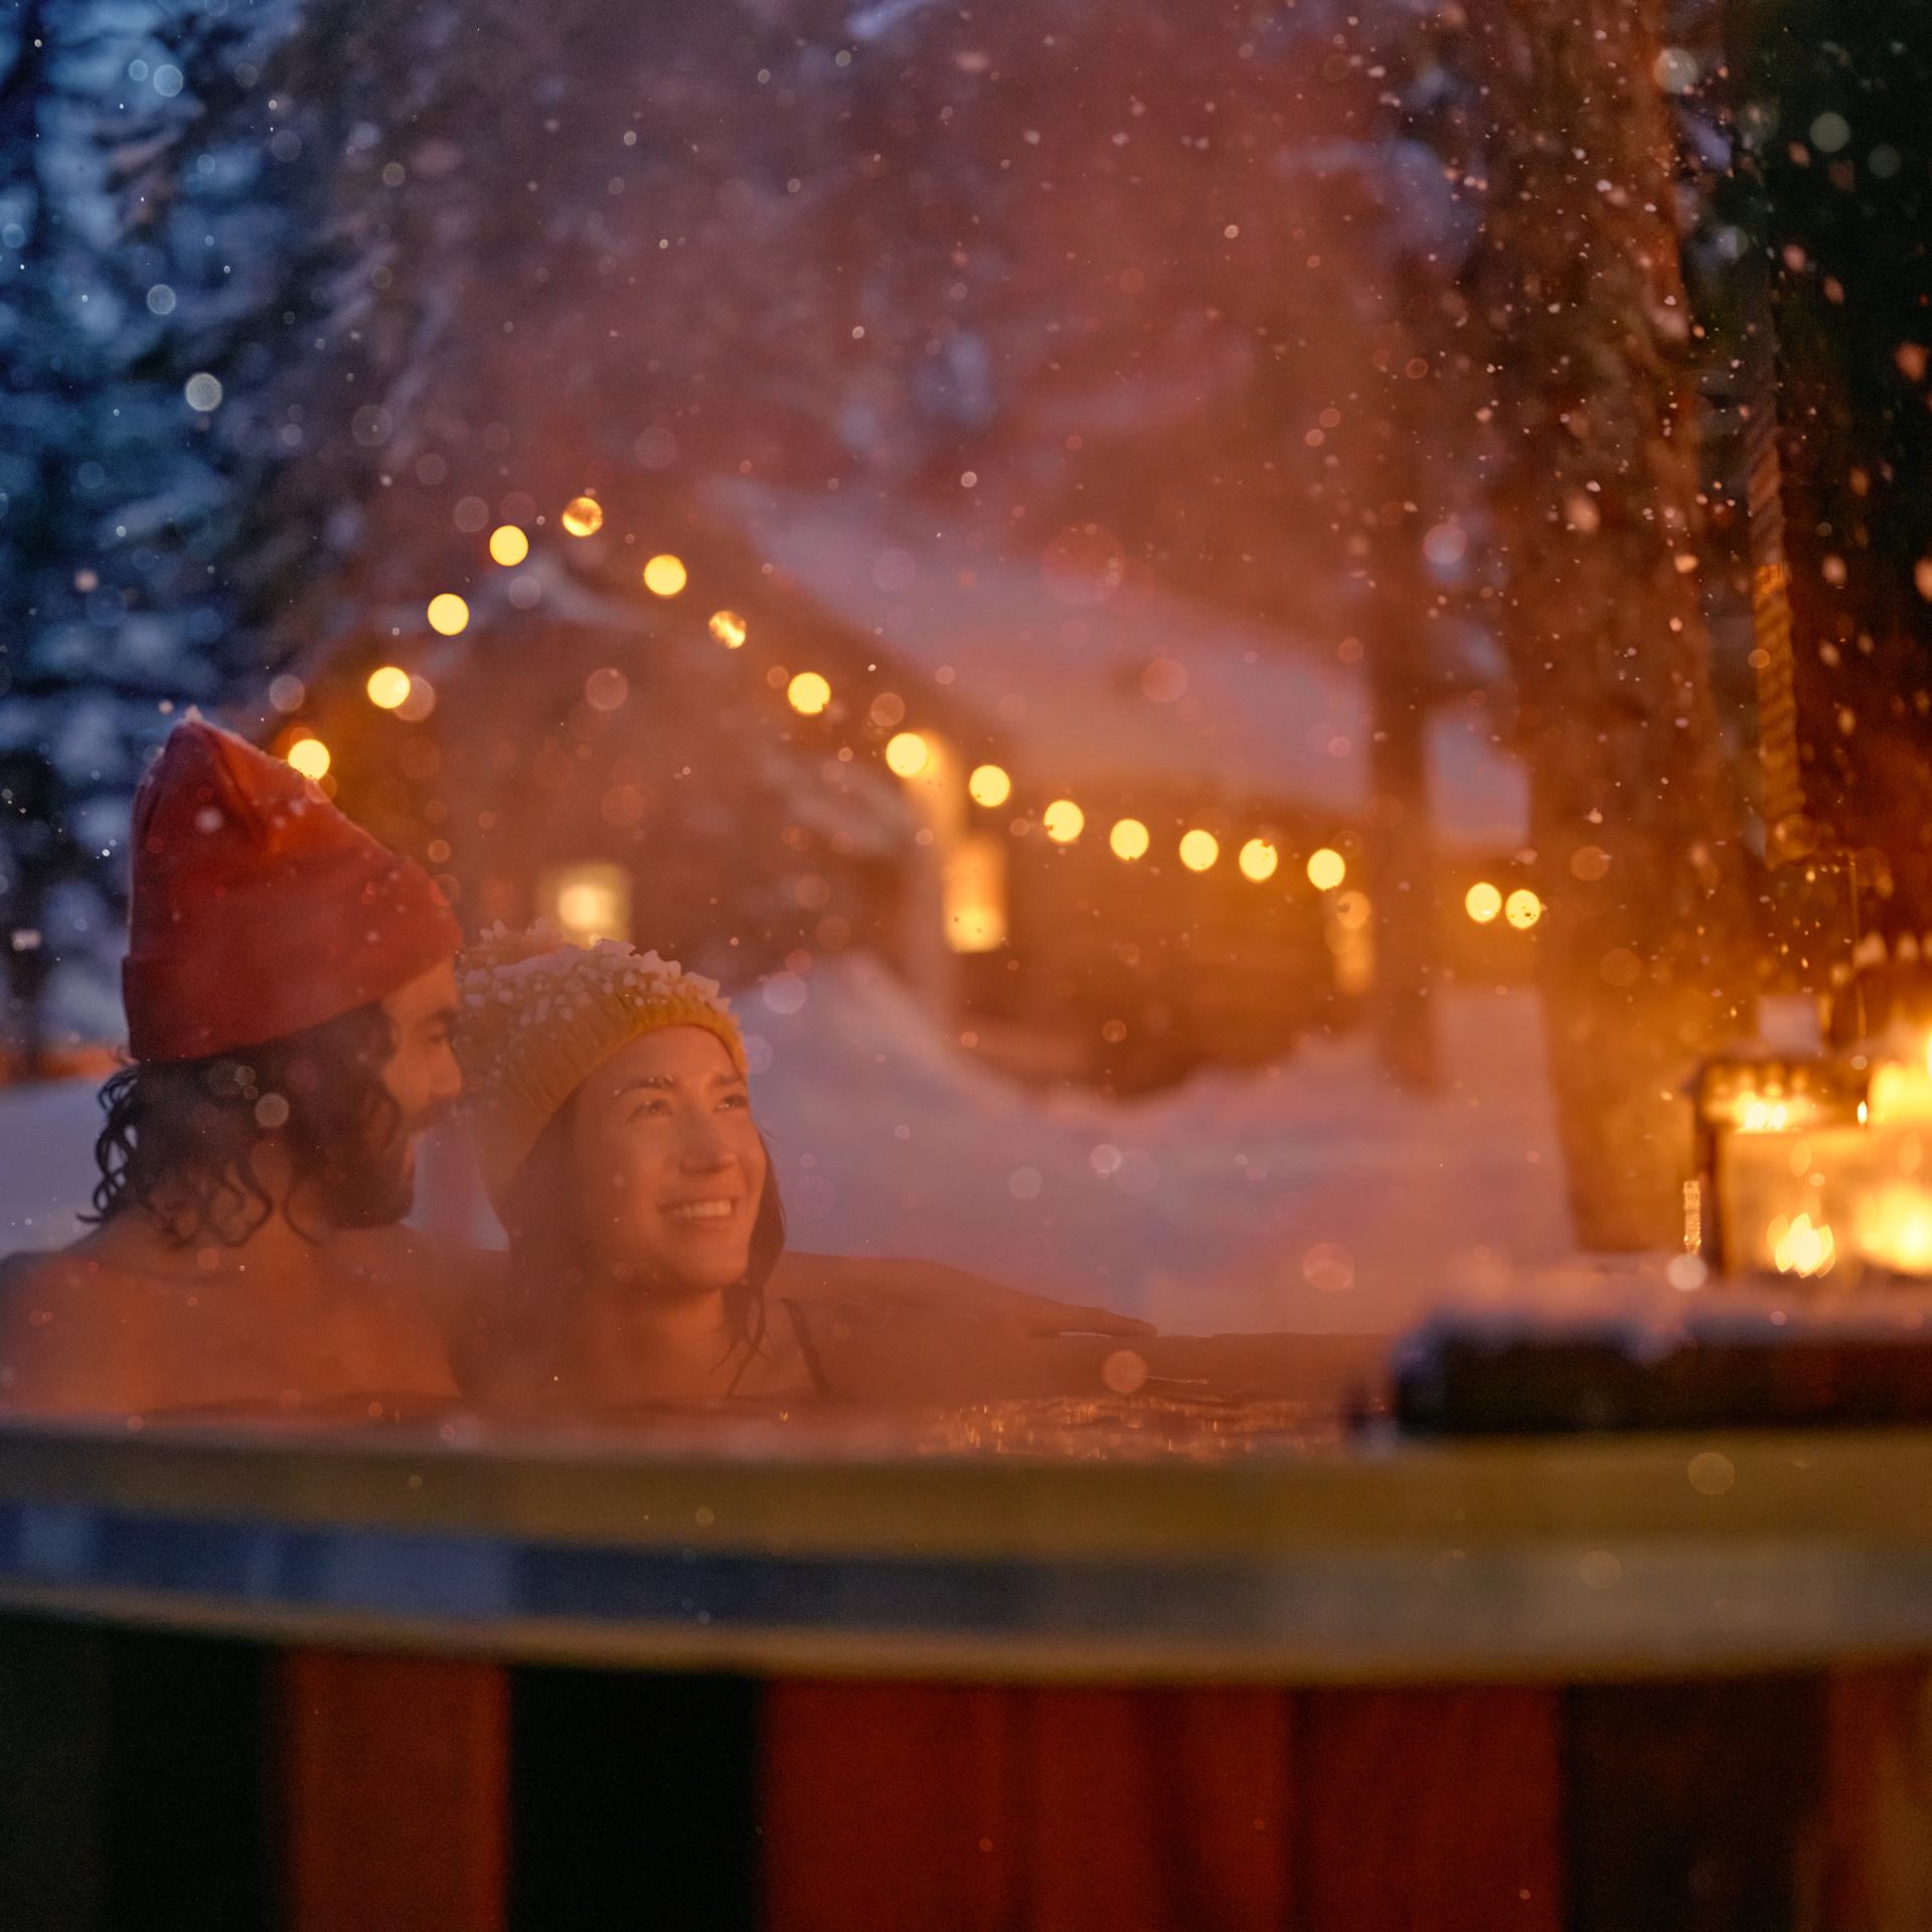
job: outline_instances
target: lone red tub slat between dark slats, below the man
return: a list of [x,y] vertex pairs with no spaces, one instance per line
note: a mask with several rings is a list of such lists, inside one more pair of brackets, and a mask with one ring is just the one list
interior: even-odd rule
[[290,1932],[502,1932],[504,1673],[294,1650],[278,1706]]

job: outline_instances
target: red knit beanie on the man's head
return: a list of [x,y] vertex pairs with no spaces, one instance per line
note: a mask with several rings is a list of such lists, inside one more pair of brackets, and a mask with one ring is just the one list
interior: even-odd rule
[[128,1049],[199,1061],[383,999],[462,933],[412,860],[292,765],[191,719],[133,800]]

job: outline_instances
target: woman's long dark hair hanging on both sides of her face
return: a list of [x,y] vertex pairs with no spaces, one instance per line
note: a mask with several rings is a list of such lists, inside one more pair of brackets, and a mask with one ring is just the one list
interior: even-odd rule
[[[512,1325],[524,1337],[543,1333],[554,1321],[553,1298],[560,1285],[587,1269],[583,1217],[578,1213],[576,1175],[570,1159],[572,1121],[578,1095],[572,1094],[551,1117],[537,1146],[518,1169],[497,1204],[510,1236],[516,1277]],[[763,1146],[763,1138],[759,1138]],[[773,1161],[765,1159],[765,1186],[752,1223],[752,1252],[746,1271],[724,1291],[724,1360],[738,1356],[738,1376],[765,1345],[765,1283],[784,1252],[784,1204]]]

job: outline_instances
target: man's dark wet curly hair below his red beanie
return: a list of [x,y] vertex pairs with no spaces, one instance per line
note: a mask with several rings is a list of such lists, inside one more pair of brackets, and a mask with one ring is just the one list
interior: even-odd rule
[[[402,1109],[383,1084],[394,1049],[388,1014],[367,1005],[238,1053],[124,1066],[100,1088],[100,1180],[87,1219],[141,1208],[180,1246],[209,1236],[240,1246],[276,1213],[255,1165],[272,1132],[294,1169],[280,1213],[309,1233],[290,1209],[327,1209],[369,1188],[371,1163],[396,1144]],[[386,1206],[373,1204],[371,1219]]]

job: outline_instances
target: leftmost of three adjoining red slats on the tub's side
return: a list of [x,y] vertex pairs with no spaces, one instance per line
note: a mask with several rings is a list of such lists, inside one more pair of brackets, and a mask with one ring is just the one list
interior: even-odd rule
[[782,1679],[765,1694],[771,1932],[1005,1932],[1020,1690]]

